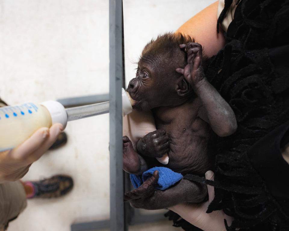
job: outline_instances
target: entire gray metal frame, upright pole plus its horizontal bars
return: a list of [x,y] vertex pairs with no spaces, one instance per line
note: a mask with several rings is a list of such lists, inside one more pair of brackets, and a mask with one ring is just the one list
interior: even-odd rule
[[[110,220],[100,220],[71,225],[71,231],[93,231],[110,228],[127,231],[128,225],[165,220],[163,214],[143,215],[123,203],[123,192],[132,189],[129,174],[123,174],[122,101],[121,87],[125,87],[124,39],[122,0],[109,1],[110,22]],[[107,101],[107,95],[95,95],[58,100],[65,107]]]

